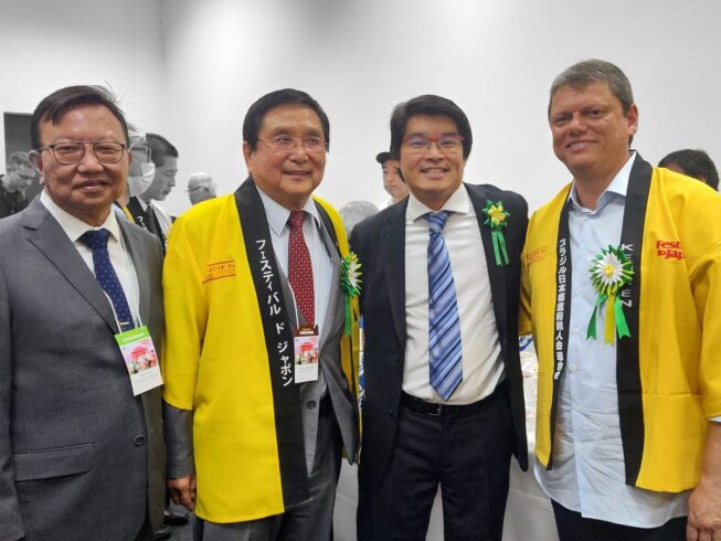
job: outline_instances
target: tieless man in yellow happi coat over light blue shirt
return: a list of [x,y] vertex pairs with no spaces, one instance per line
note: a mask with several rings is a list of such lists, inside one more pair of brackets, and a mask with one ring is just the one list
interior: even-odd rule
[[721,195],[629,149],[613,64],[559,75],[549,121],[573,182],[530,221],[520,327],[560,538],[721,539]]

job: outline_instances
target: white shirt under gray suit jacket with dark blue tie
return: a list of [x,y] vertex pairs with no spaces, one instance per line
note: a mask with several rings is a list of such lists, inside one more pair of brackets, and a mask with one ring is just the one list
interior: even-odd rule
[[[40,202],[43,204],[43,206],[45,206],[45,209],[47,209],[47,212],[50,212],[50,214],[60,224],[61,229],[71,240],[77,250],[77,253],[81,255],[93,275],[95,275],[93,251],[84,242],[82,242],[79,237],[83,236],[83,234],[87,231],[106,229],[110,232],[107,243],[108,253],[110,255],[110,264],[113,265],[115,274],[117,274],[118,279],[120,280],[120,286],[123,286],[125,298],[128,300],[128,306],[130,307],[130,314],[132,314],[132,320],[135,325],[144,325],[144,322],[140,321],[138,309],[140,297],[138,275],[136,274],[132,258],[130,257],[130,254],[125,246],[125,240],[123,238],[123,233],[120,232],[120,226],[118,225],[115,212],[108,212],[105,222],[99,227],[93,227],[92,225],[86,224],[82,220],[73,216],[72,214],[57,206],[44,190],[40,193]],[[108,303],[110,303],[110,307],[113,307],[110,297],[108,297],[107,294],[105,296],[107,297]],[[114,307],[113,312],[115,314]],[[118,318],[116,315],[115,320],[117,321],[117,319]],[[119,327],[120,325],[118,323],[118,328]]]

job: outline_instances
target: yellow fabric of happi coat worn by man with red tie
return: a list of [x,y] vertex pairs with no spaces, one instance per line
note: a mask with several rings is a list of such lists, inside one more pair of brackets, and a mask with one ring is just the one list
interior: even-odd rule
[[[330,216],[340,256],[346,256],[348,241],[339,214],[314,199]],[[212,522],[247,521],[285,510],[277,431],[286,427],[276,418],[272,385],[272,370],[278,367],[268,362],[261,316],[267,307],[256,296],[250,250],[231,194],[197,205],[176,221],[165,262],[165,400],[193,411],[195,512]],[[273,254],[272,245],[268,250]],[[352,310],[356,317],[351,336],[341,341],[341,362],[349,389],[357,390],[357,299]],[[304,456],[303,446],[294,452]]]

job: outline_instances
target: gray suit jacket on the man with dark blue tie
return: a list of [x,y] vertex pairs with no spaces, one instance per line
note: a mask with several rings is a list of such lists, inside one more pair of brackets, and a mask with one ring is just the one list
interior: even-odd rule
[[[160,245],[123,220],[139,312],[162,336]],[[134,397],[113,309],[35,199],[0,222],[2,539],[132,540],[162,520],[160,390]],[[147,524],[146,524],[147,529]]]

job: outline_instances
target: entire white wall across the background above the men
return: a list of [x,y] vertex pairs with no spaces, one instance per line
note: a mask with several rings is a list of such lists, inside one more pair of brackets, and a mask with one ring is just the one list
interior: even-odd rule
[[193,171],[223,192],[237,187],[245,110],[286,86],[330,117],[319,193],[338,205],[385,199],[374,156],[389,145],[391,109],[436,93],[470,118],[466,180],[520,191],[536,208],[569,179],[551,151],[548,87],[592,56],[629,76],[646,159],[702,147],[721,165],[717,0],[0,0],[0,109],[31,112],[60,86],[107,82],[129,118],[178,146],[174,213]]

